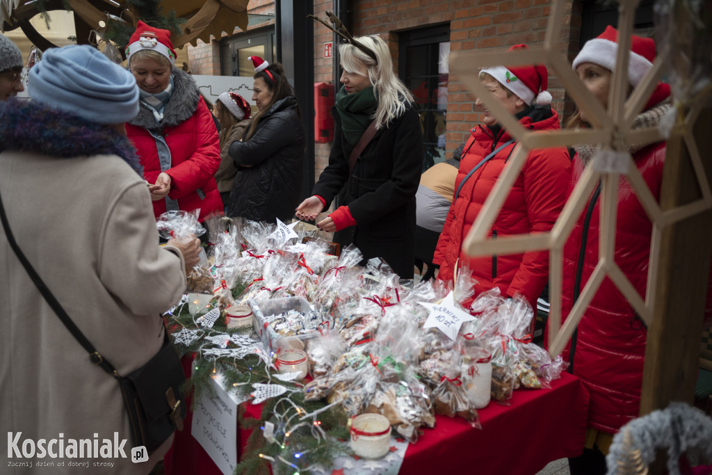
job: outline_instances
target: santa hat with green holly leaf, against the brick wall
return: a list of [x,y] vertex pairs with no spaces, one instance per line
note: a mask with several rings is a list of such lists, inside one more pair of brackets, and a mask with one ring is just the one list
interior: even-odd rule
[[[518,49],[528,50],[529,48],[526,45],[514,45],[508,51],[516,51]],[[537,105],[551,103],[551,94],[547,90],[549,73],[546,71],[546,66],[540,64],[511,68],[494,66],[493,68],[484,68],[481,73],[491,75],[527,105],[532,105],[533,102]]]

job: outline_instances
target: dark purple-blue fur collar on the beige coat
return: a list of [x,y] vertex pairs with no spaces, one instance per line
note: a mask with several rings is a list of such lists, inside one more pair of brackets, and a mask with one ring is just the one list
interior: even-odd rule
[[0,102],[0,152],[17,150],[49,157],[118,155],[136,172],[143,169],[130,140],[107,125],[50,108],[36,100]]

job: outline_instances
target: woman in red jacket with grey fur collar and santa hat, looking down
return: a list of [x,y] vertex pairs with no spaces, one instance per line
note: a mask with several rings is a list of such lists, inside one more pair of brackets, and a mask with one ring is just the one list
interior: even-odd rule
[[126,56],[140,88],[140,111],[126,132],[143,165],[155,216],[200,209],[202,221],[222,212],[214,179],[220,166],[217,130],[192,78],[174,68],[169,31],[139,21]]

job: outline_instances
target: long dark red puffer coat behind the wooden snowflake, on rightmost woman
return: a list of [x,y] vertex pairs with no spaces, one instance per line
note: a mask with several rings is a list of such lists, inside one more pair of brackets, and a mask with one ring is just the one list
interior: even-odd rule
[[[649,145],[633,159],[651,193],[659,199],[665,160],[664,142]],[[576,155],[570,192],[584,165]],[[600,190],[597,189],[564,247],[562,320],[598,262]],[[621,177],[616,216],[614,261],[645,296],[652,224],[631,185]],[[585,241],[584,241],[585,236]],[[585,244],[582,244],[585,242]],[[579,276],[580,274],[580,276]],[[646,329],[614,283],[604,278],[562,356],[590,392],[589,427],[613,433],[638,417]],[[571,351],[573,352],[571,354]]]

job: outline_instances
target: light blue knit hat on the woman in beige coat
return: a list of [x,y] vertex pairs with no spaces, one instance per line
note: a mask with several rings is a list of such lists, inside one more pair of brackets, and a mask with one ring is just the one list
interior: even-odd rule
[[88,45],[48,49],[27,87],[33,100],[100,124],[129,122],[139,110],[133,75]]

